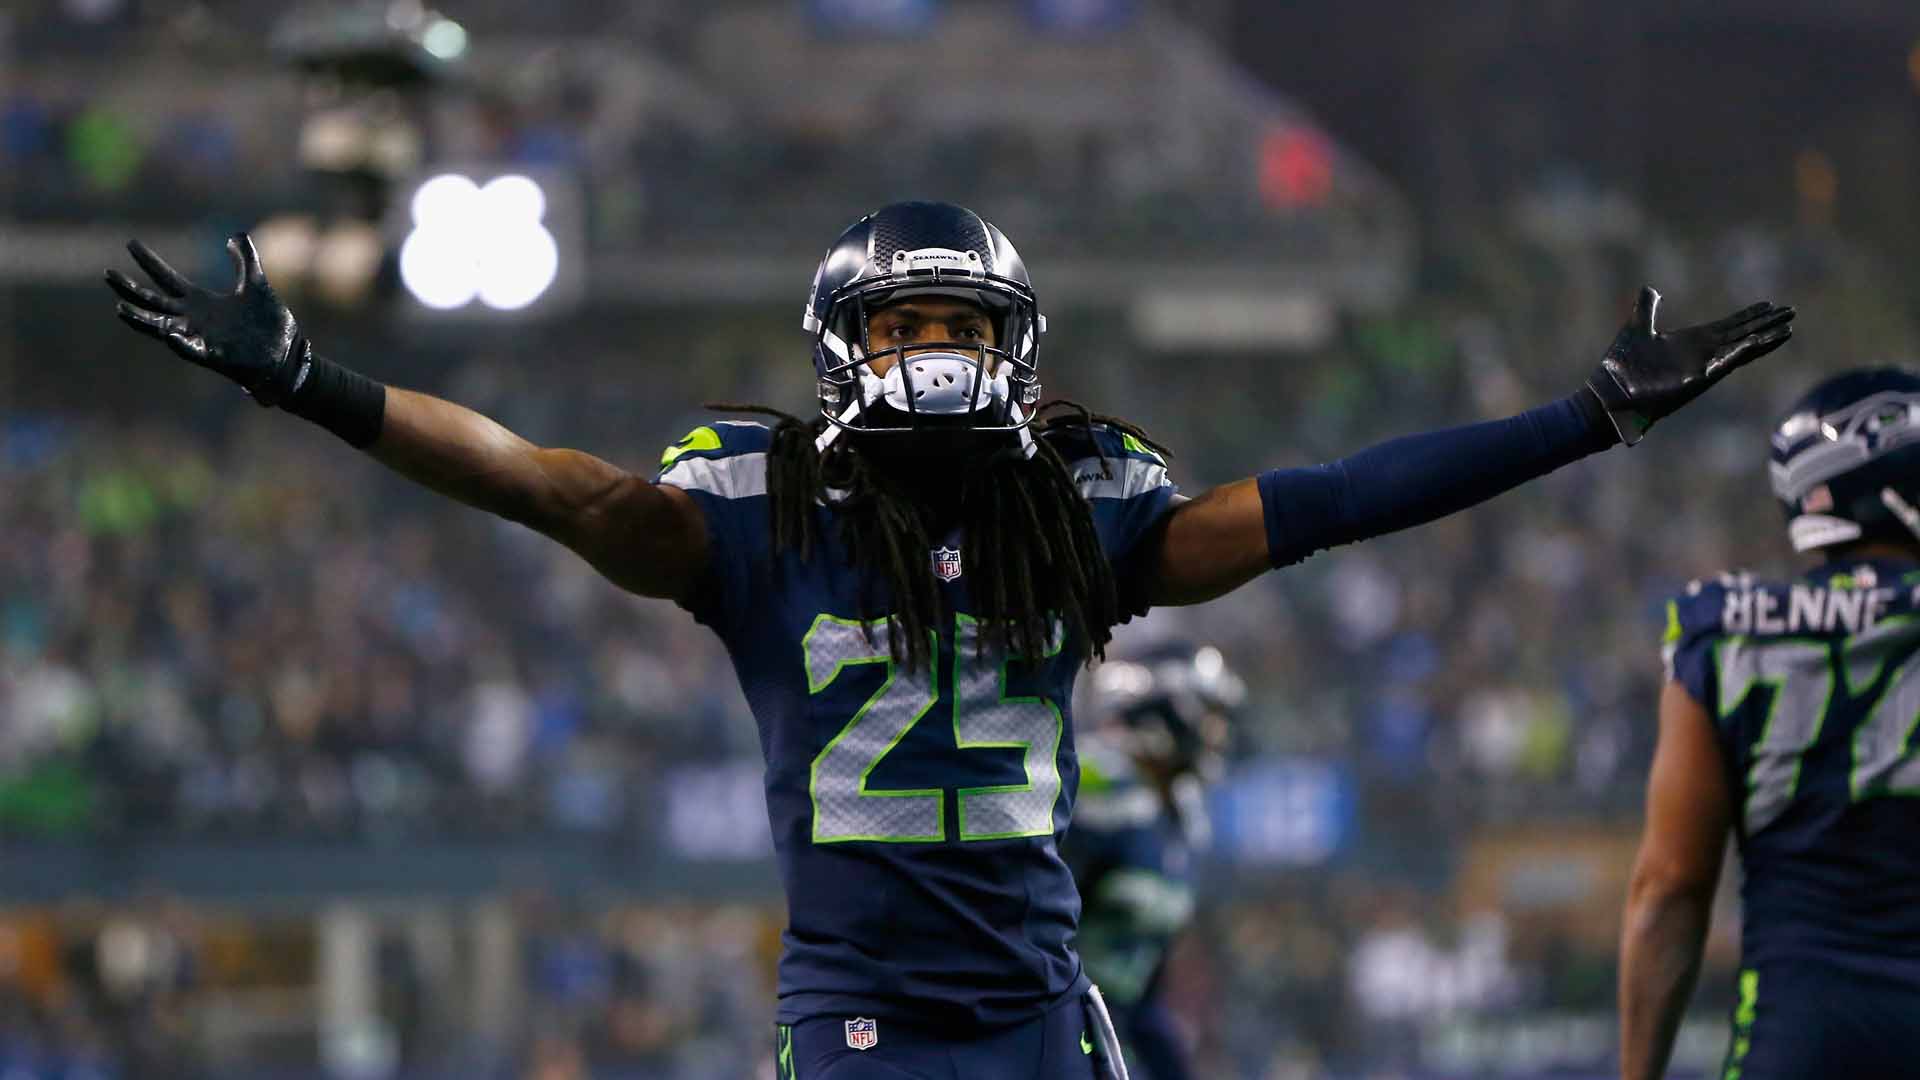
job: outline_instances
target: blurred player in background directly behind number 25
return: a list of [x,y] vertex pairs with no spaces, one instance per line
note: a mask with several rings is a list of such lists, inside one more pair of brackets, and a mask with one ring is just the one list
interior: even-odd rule
[[1246,686],[1213,646],[1165,642],[1089,673],[1081,794],[1064,847],[1081,890],[1075,938],[1148,1080],[1188,1080],[1167,1011],[1173,940],[1192,922],[1208,846],[1206,784],[1221,776]]

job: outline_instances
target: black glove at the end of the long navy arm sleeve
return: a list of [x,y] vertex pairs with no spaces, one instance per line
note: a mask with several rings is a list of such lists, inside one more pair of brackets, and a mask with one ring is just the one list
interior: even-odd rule
[[1715,323],[1659,332],[1653,329],[1659,306],[1661,294],[1651,284],[1642,286],[1634,315],[1586,380],[1628,446],[1640,442],[1653,421],[1793,336],[1791,307],[1763,302]]

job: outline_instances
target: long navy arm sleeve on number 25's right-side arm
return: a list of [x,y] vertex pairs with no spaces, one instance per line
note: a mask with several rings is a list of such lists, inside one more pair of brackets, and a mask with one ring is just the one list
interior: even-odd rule
[[1267,557],[1313,552],[1425,525],[1486,502],[1619,442],[1590,390],[1486,421],[1409,434],[1309,469],[1260,475]]

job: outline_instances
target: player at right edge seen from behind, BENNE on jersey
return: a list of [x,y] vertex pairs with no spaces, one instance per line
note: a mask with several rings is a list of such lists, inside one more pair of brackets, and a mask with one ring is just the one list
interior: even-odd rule
[[1807,575],[1695,582],[1620,940],[1620,1076],[1667,1068],[1732,832],[1724,1080],[1914,1074],[1920,1047],[1920,375],[1849,371],[1774,427]]

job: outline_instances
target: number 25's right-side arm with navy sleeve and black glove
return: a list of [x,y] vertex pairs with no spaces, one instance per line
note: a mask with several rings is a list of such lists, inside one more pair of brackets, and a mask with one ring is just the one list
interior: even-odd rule
[[1659,294],[1644,288],[1634,317],[1571,398],[1311,469],[1273,469],[1175,507],[1152,601],[1213,600],[1269,567],[1446,517],[1615,442],[1640,442],[1653,421],[1793,334],[1793,309],[1770,304],[1657,332],[1657,306]]

